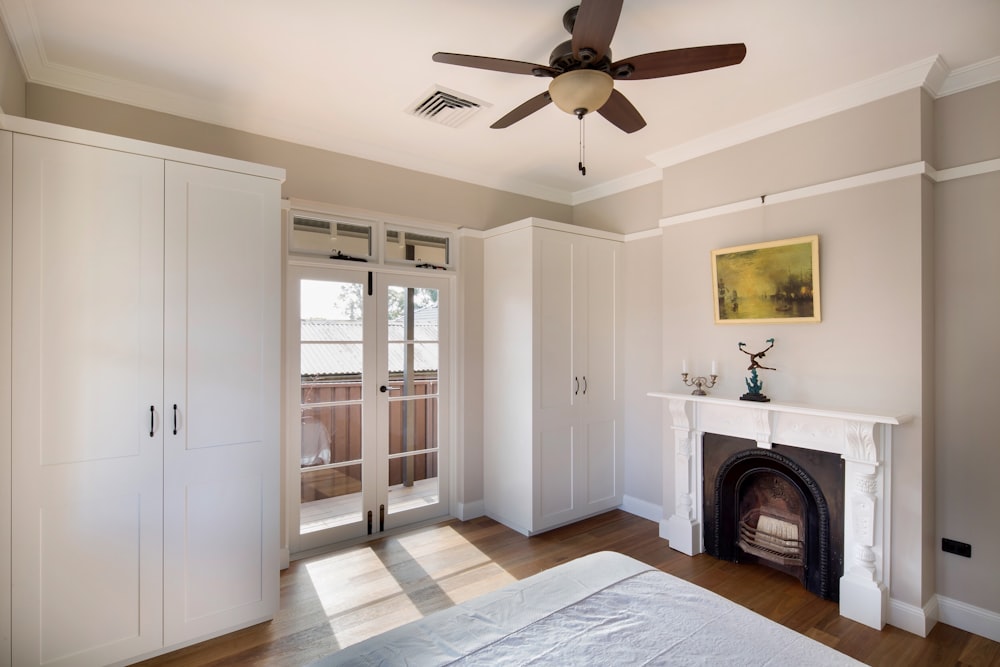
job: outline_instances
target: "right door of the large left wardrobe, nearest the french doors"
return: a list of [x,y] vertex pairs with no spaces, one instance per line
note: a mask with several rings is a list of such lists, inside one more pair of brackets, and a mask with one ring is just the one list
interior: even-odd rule
[[278,188],[166,165],[168,644],[277,609]]

